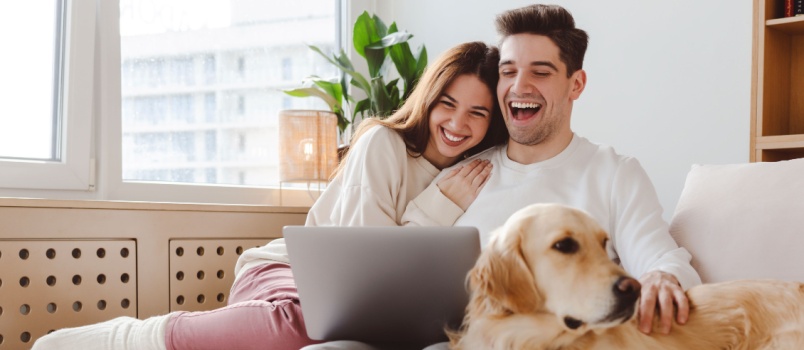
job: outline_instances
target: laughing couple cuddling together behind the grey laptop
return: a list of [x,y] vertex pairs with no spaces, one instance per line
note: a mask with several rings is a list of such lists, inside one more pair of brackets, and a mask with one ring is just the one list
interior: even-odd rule
[[[517,210],[561,203],[609,233],[607,251],[642,283],[639,327],[685,323],[700,278],[670,236],[639,162],[576,135],[588,37],[558,6],[497,16],[499,49],[470,42],[425,71],[404,106],[364,120],[311,226],[475,226],[481,243]],[[240,256],[226,307],[58,330],[34,349],[299,349],[309,339],[282,239]],[[674,310],[674,308],[676,310]],[[312,345],[312,346],[311,346]],[[441,344],[443,346],[443,344]]]

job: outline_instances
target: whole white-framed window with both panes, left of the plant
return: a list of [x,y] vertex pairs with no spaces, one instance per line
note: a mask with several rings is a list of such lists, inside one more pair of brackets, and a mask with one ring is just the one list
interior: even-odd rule
[[[0,66],[28,73],[0,75],[0,132],[34,115],[50,124],[35,128],[45,135],[36,136],[44,151],[19,141],[0,146],[38,152],[0,148],[0,196],[278,203],[278,111],[327,108],[281,90],[307,75],[339,73],[307,45],[339,47],[341,1],[27,3],[0,6],[4,45],[24,39],[22,51],[30,51],[33,42],[48,42],[51,51],[13,63],[2,61],[13,55],[0,57]],[[34,37],[26,26],[47,27],[49,36]],[[20,31],[26,35],[14,35]],[[43,57],[46,68],[21,66]],[[53,78],[57,68],[61,80]],[[49,80],[25,95],[45,102],[10,107],[7,96],[20,96],[21,84],[43,70]]]

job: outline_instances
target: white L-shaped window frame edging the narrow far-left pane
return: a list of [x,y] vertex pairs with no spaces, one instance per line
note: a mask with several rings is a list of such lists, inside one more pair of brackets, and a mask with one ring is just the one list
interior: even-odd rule
[[64,1],[60,161],[0,159],[0,188],[91,191],[95,187],[93,83],[94,0]]

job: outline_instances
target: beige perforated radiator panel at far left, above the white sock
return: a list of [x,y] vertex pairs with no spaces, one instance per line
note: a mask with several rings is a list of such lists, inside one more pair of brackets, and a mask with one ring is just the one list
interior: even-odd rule
[[0,349],[49,331],[137,316],[136,243],[0,240]]

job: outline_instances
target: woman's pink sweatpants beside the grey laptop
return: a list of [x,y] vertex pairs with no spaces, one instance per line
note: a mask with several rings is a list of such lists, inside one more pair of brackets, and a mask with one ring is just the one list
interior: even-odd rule
[[232,286],[229,305],[170,318],[168,350],[294,349],[315,344],[304,328],[290,266],[267,263],[249,269]]

